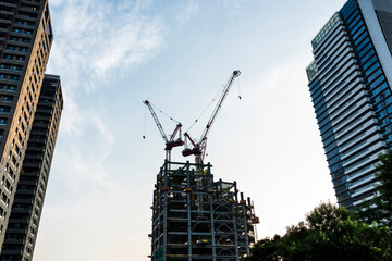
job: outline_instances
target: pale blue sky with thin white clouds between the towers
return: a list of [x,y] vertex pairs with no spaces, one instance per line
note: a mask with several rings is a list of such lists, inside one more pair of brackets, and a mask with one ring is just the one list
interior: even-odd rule
[[[254,200],[258,238],[335,202],[305,67],[313,37],[344,2],[49,0],[47,73],[61,76],[64,110],[34,259],[148,260],[164,142],[143,100],[185,130],[234,70],[242,74],[205,162]],[[173,132],[175,123],[158,116]],[[172,158],[194,160],[181,149]]]

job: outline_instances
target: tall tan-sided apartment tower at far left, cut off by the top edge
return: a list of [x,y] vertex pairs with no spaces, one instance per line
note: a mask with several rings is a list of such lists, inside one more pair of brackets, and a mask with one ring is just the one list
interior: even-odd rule
[[0,251],[51,44],[47,0],[0,0]]

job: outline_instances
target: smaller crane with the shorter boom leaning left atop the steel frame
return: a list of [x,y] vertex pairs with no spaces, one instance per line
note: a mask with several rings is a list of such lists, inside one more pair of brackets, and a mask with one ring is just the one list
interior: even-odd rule
[[[154,111],[154,108],[152,108],[151,103],[148,100],[143,101],[143,103],[145,103],[148,107],[149,111],[151,112],[152,119],[156,122],[157,127],[158,127],[158,129],[159,129],[159,132],[160,132],[160,134],[161,134],[161,136],[162,136],[162,138],[164,140],[164,144],[166,144],[166,148],[164,148],[164,150],[166,150],[166,159],[168,161],[170,161],[172,148],[184,145],[184,141],[181,139],[182,124],[180,122],[175,121],[174,119],[170,117],[172,121],[176,122],[177,125],[176,125],[173,134],[170,136],[170,138],[168,138],[164,130],[163,130],[162,125],[160,124],[160,122],[158,120],[157,113],[155,113],[155,111]],[[179,138],[175,139],[176,134],[179,134]]]

